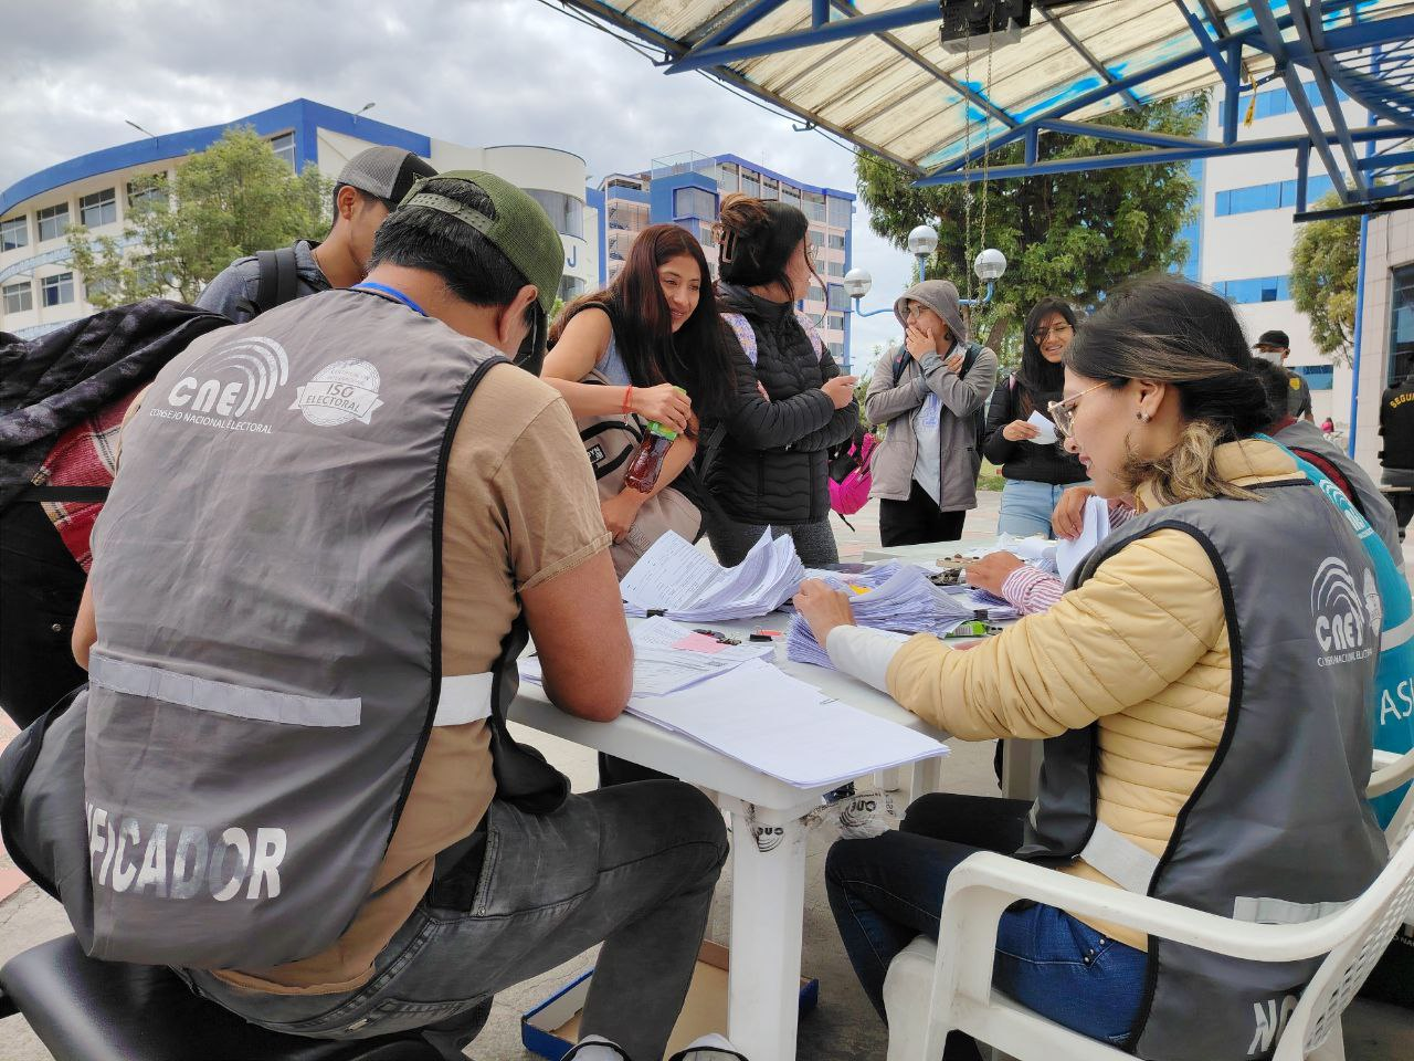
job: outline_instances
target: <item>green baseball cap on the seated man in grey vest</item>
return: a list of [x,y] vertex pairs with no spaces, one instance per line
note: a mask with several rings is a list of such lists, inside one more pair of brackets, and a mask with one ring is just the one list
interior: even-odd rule
[[[430,181],[475,184],[496,208],[496,216],[488,218],[485,214],[457,202],[457,199],[426,191]],[[564,273],[564,245],[560,243],[560,235],[554,231],[550,215],[520,188],[493,173],[452,170],[417,181],[409,188],[407,197],[400,205],[403,209],[409,207],[440,209],[443,214],[451,214],[458,221],[471,225],[491,240],[529,283],[534,284],[536,301],[546,317],[550,315],[554,298],[560,291],[560,277]]]

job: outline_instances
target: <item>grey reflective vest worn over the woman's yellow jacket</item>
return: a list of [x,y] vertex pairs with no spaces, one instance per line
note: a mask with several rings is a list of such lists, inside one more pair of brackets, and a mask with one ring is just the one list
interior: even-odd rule
[[[1380,596],[1342,515],[1299,478],[1261,502],[1158,509],[1111,533],[1070,587],[1162,528],[1195,538],[1222,587],[1232,695],[1213,761],[1159,857],[1096,818],[1099,729],[1045,743],[1018,857],[1083,857],[1120,887],[1258,922],[1305,921],[1356,898],[1387,859],[1365,787]],[[1263,965],[1150,937],[1130,1047],[1152,1061],[1266,1057],[1319,959]]]

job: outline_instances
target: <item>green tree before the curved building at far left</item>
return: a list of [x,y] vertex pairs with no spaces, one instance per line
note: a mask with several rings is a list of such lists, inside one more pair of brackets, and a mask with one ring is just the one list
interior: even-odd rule
[[321,236],[332,191],[314,166],[291,173],[249,126],[228,129],[171,180],[133,181],[122,238],[71,226],[69,253],[99,308],[168,291],[192,301],[235,259]]

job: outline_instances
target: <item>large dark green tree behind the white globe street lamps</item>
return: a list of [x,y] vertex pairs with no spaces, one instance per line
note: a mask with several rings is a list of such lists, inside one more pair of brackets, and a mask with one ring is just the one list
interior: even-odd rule
[[[1096,122],[1192,136],[1202,129],[1205,116],[1206,99],[1188,98],[1150,103]],[[1041,137],[1039,158],[1130,150],[1134,149],[1128,144],[1087,136],[1046,134]],[[1021,144],[1001,147],[990,157],[991,166],[1022,161]],[[1053,296],[1092,307],[1126,277],[1181,266],[1189,248],[1178,239],[1178,232],[1193,215],[1191,201],[1198,190],[1186,163],[915,188],[913,177],[894,163],[860,156],[855,175],[870,211],[870,226],[895,246],[906,246],[915,225],[937,229],[937,250],[928,274],[953,280],[963,297],[969,286],[974,293],[981,287],[971,262],[983,246],[994,246],[1007,256],[1007,274],[997,284],[994,301],[971,321],[973,334],[983,337],[998,323],[1008,325],[1011,338],[998,344],[997,351],[1003,364],[1014,362],[1019,354],[1019,325],[1039,298]]]

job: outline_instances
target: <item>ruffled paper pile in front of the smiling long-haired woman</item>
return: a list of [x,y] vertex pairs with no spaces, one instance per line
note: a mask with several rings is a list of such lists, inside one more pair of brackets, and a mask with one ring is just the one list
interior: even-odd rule
[[765,532],[735,567],[723,567],[669,530],[619,583],[629,615],[662,613],[686,622],[751,618],[785,604],[800,589],[805,567],[789,536]]

